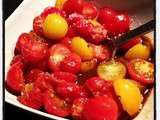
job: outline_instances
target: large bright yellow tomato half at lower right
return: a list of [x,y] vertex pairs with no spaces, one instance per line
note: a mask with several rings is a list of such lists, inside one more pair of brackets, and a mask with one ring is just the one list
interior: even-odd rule
[[130,116],[138,113],[143,100],[139,88],[129,79],[117,79],[114,81],[113,87],[123,109]]

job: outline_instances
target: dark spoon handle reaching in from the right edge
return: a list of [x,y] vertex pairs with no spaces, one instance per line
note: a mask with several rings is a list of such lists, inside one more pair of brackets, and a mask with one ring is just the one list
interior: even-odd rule
[[128,33],[122,35],[121,37],[118,37],[117,39],[113,40],[113,44],[116,47],[119,47],[120,45],[128,42],[130,39],[138,36],[138,35],[143,35],[147,32],[150,32],[153,30],[155,27],[155,21],[151,20],[140,27],[137,27],[136,29],[133,29],[129,31]]

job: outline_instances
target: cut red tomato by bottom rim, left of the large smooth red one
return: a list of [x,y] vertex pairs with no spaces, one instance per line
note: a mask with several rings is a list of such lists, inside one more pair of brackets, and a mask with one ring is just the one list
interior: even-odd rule
[[53,91],[46,91],[43,96],[43,104],[45,110],[52,115],[66,117],[70,114],[69,105],[59,97],[57,97]]

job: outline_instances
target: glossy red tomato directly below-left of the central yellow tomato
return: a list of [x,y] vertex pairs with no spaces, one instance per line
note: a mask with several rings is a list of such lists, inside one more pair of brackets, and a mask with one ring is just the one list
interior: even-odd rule
[[61,69],[70,73],[78,73],[81,67],[81,57],[75,53],[68,54],[61,62]]

